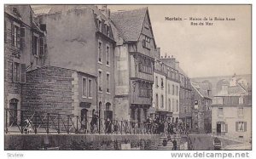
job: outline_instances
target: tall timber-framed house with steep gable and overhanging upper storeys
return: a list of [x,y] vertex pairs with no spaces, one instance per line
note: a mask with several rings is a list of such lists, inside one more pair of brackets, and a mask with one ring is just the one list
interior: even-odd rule
[[156,44],[148,9],[111,13],[116,27],[115,110],[119,120],[144,122],[152,106]]

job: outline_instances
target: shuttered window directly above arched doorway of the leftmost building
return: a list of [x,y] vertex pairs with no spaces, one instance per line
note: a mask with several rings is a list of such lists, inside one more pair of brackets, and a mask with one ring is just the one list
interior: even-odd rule
[[13,82],[26,82],[26,64],[13,63]]

